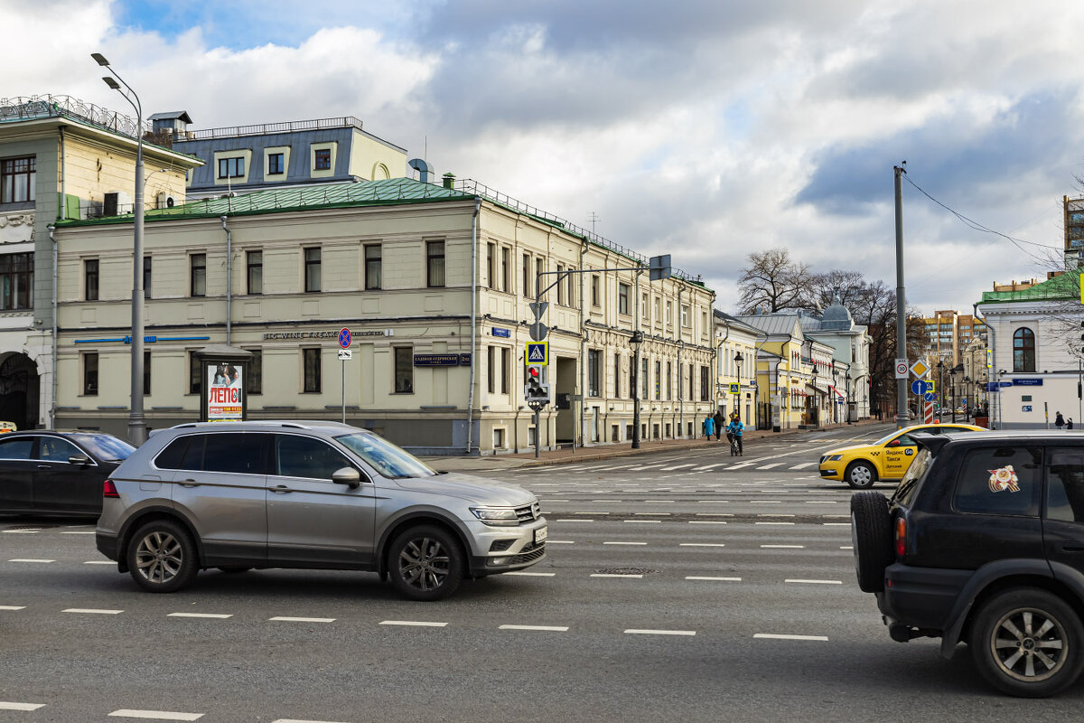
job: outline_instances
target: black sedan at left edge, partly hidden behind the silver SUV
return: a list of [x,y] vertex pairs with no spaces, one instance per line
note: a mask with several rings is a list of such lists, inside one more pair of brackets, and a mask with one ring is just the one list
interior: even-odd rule
[[102,485],[136,448],[96,431],[17,431],[0,436],[0,513],[102,513]]

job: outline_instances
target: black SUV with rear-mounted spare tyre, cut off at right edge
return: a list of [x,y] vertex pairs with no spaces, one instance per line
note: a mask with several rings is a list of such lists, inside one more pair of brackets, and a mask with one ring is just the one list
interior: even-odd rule
[[994,687],[1043,697],[1084,669],[1084,435],[915,435],[891,499],[851,498],[859,586],[892,640],[958,643]]

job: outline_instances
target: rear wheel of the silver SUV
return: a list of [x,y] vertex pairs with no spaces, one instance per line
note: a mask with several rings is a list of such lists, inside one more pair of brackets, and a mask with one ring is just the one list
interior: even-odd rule
[[180,590],[195,577],[195,545],[188,530],[168,519],[147,522],[128,544],[128,570],[136,583],[152,593]]

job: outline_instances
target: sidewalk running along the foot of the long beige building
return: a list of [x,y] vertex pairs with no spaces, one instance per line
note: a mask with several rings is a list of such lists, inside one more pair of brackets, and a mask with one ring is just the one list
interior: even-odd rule
[[[748,430],[745,434],[747,442],[756,443],[761,439],[793,439],[812,431],[825,431],[827,429],[840,429],[850,426],[852,429],[875,424],[883,424],[877,419],[863,419],[852,425],[829,424],[816,429],[787,429],[785,431],[767,431],[763,429]],[[718,449],[726,450],[726,436],[722,440],[708,440],[704,437],[697,439],[669,439],[664,441],[640,443],[640,449],[634,450],[631,442],[615,444],[601,444],[597,447],[580,447],[577,449],[543,450],[539,457],[534,459],[533,452],[520,454],[496,454],[486,456],[443,456],[429,455],[421,457],[435,469],[442,472],[486,472],[516,469],[519,467],[540,467],[555,464],[570,464],[573,462],[597,462],[599,460],[612,460],[616,457],[635,456],[638,454],[650,454],[653,452],[672,452],[675,450],[706,450],[715,446]]]

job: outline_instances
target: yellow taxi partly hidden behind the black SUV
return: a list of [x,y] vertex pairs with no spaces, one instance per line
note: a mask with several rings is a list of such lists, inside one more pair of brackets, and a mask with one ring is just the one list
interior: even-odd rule
[[985,431],[973,424],[916,424],[895,429],[873,444],[856,444],[831,450],[821,457],[821,477],[847,482],[855,490],[873,487],[878,479],[901,479],[915,460],[918,447],[909,437],[921,431],[940,435],[949,431]]

